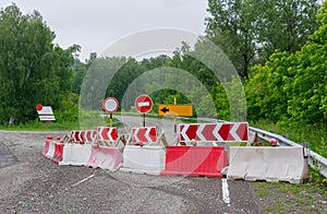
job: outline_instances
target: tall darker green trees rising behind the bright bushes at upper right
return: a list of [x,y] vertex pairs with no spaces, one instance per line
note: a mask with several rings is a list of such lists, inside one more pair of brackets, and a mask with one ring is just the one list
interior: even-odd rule
[[319,0],[208,0],[207,37],[219,45],[239,74],[276,50],[296,51],[317,29]]

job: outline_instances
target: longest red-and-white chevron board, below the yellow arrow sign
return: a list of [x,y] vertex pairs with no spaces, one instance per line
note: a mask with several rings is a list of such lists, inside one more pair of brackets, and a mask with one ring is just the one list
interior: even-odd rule
[[218,141],[218,142],[247,142],[247,122],[223,122],[223,123],[195,123],[180,124],[179,134],[182,142]]

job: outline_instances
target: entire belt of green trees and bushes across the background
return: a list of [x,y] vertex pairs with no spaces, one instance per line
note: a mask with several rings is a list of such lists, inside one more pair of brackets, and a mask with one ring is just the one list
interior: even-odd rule
[[[0,121],[34,120],[38,103],[53,106],[61,120],[76,120],[77,104],[80,110],[101,110],[108,96],[130,110],[135,96],[146,93],[154,111],[177,96],[179,104],[192,103],[197,116],[230,120],[237,111],[246,120],[246,111],[251,120],[324,124],[327,3],[316,19],[317,2],[209,0],[206,35],[194,48],[183,43],[172,57],[142,61],[90,54],[86,63],[74,59],[78,46],[53,45],[55,33],[38,12],[23,15],[13,4],[0,13]],[[244,85],[221,69],[228,64],[219,52],[211,55],[209,41],[223,50]],[[218,74],[217,64],[226,66]]]

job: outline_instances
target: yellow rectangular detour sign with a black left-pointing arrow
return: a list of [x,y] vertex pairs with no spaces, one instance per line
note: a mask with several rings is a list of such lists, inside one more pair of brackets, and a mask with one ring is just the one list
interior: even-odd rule
[[193,106],[159,104],[159,116],[193,116]]

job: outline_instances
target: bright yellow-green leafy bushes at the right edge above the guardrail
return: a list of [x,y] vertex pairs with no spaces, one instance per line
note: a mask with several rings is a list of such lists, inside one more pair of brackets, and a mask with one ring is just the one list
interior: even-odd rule
[[327,2],[317,17],[322,26],[300,51],[277,51],[252,68],[245,84],[252,119],[327,122]]

